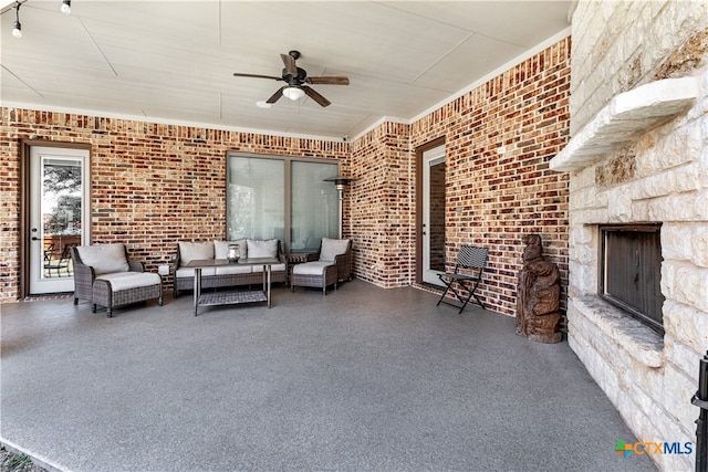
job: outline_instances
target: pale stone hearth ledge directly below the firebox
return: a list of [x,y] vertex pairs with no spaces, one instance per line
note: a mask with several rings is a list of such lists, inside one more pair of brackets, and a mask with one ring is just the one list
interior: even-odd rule
[[572,304],[580,314],[622,346],[634,359],[647,367],[664,366],[662,335],[596,295],[572,298]]

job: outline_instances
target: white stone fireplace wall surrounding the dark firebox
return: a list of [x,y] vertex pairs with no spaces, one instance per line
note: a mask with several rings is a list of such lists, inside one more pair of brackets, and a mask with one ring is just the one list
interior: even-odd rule
[[[573,14],[573,135],[616,94],[700,77],[686,114],[570,178],[569,344],[639,441],[696,441],[690,397],[708,349],[707,14],[702,1],[581,1]],[[596,296],[597,225],[646,222],[663,223],[664,336]],[[653,459],[693,470],[695,453]]]

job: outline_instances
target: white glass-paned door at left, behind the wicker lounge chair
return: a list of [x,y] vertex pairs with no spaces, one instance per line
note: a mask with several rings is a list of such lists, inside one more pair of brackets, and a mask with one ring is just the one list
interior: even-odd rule
[[88,150],[30,149],[30,294],[72,292],[71,247],[88,240]]

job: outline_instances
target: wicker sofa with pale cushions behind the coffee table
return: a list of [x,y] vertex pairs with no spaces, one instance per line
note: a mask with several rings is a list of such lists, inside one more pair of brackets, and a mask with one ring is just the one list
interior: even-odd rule
[[201,269],[202,289],[263,283],[262,266],[228,263],[229,244],[238,244],[243,259],[278,258],[282,263],[271,266],[271,282],[288,282],[288,261],[280,240],[180,241],[177,243],[177,255],[173,264],[174,296],[179,296],[181,291],[194,290],[195,268]]

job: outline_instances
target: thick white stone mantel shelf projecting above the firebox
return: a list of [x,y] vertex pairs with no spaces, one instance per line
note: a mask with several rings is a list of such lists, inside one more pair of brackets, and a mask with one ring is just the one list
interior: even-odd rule
[[696,77],[664,78],[616,95],[549,166],[559,171],[584,169],[602,155],[685,112],[697,97]]

